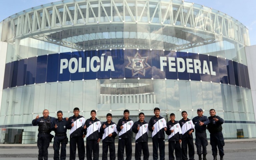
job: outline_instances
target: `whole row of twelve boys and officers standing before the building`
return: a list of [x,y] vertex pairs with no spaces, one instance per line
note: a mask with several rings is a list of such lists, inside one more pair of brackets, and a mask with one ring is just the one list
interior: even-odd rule
[[[126,160],[132,158],[132,132],[135,136],[135,159],[140,160],[143,152],[143,159],[149,159],[148,132],[152,133],[153,159],[158,159],[158,148],[160,160],[165,159],[165,133],[168,135],[169,160],[194,160],[194,144],[192,132],[195,131],[195,145],[199,160],[206,160],[206,146],[208,145],[206,137],[206,128],[210,132],[210,144],[212,145],[212,154],[214,160],[217,160],[217,147],[219,149],[220,160],[223,160],[224,138],[222,127],[224,120],[216,116],[214,109],[210,110],[210,117],[203,116],[203,110],[197,109],[198,116],[192,120],[187,118],[187,112],[182,111],[182,119],[175,121],[175,114],[170,114],[170,121],[166,123],[164,117],[160,116],[160,109],[154,108],[154,116],[147,123],[144,121],[144,113],[139,113],[139,120],[133,122],[129,118],[129,110],[124,110],[124,117],[117,124],[112,122],[112,114],[106,115],[106,122],[101,124],[96,118],[96,111],[91,111],[91,118],[85,120],[79,115],[79,108],[74,108],[74,115],[69,118],[62,118],[62,111],[57,112],[57,119],[49,116],[49,111],[43,111],[43,117],[37,117],[32,121],[34,126],[38,125],[37,146],[39,149],[38,159],[48,159],[48,147],[51,141],[51,131],[55,132],[53,148],[54,160],[66,159],[66,144],[68,142],[67,129],[70,129],[70,160],[76,157],[76,146],[78,149],[79,160],[85,159],[86,138],[86,158],[87,160],[99,159],[99,142],[102,139],[102,160],[107,160],[109,149],[110,160],[116,159],[115,137],[118,135],[117,159],[124,160],[124,150]],[[59,149],[61,144],[61,154]],[[175,150],[175,157],[174,152]]]

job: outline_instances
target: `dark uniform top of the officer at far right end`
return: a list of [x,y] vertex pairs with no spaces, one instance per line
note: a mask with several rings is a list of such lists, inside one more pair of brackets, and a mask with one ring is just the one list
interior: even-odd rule
[[[218,121],[216,122],[213,118],[217,118]],[[208,117],[209,123],[207,125],[207,129],[210,133],[218,133],[222,131],[222,124],[224,123],[224,120],[219,116],[214,117]]]

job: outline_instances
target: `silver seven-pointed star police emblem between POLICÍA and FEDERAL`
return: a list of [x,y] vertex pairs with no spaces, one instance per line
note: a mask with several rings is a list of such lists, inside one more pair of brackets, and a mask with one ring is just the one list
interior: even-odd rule
[[129,63],[125,66],[132,71],[132,76],[136,74],[141,74],[145,76],[146,69],[151,68],[147,63],[148,57],[141,57],[139,52],[136,53],[134,57],[128,56]]

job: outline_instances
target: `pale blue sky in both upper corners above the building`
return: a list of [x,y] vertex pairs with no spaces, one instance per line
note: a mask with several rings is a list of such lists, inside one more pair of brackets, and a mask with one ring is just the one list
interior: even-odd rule
[[[20,11],[59,0],[0,0],[0,21]],[[251,45],[256,45],[255,0],[185,0],[219,10],[237,19],[249,30]]]

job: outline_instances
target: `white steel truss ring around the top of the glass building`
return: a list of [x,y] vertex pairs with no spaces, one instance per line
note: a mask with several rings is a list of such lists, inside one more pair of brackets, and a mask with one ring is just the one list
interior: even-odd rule
[[[173,36],[185,41],[182,44],[178,42],[168,44],[173,45],[177,50],[214,43],[220,39],[236,42],[242,46],[249,45],[248,29],[234,18],[220,11],[180,0],[64,0],[25,10],[8,17],[2,23],[3,31],[0,37],[2,41],[14,42],[15,39],[32,37],[77,50],[85,48],[85,41],[88,41],[87,49],[108,48],[113,44],[95,45],[94,42],[90,45],[89,41],[93,39],[81,38],[80,41],[72,41],[72,38],[70,40],[68,37],[74,35],[86,37],[90,34],[103,33],[100,28],[111,25],[120,25],[123,29],[126,24],[161,26],[163,30],[165,27],[172,27],[175,31],[185,32],[185,35],[190,34],[194,37],[190,40],[182,33]],[[98,30],[90,30],[80,35],[77,33],[77,29],[81,30],[90,26],[91,28],[98,27]],[[76,33],[66,35],[65,40],[57,37],[56,33],[67,30],[69,33]],[[145,30],[145,32],[148,31]],[[157,33],[152,33],[157,36]],[[200,33],[204,36],[200,36]],[[165,32],[160,34],[164,35]],[[206,36],[206,34],[211,36]],[[195,37],[197,40],[194,40]],[[94,40],[97,39],[108,38],[95,36]],[[113,38],[110,37],[110,39]],[[115,39],[116,45],[119,45],[117,44],[118,38],[115,37]],[[164,37],[161,41],[168,43]],[[134,44],[132,47],[135,47]]]

